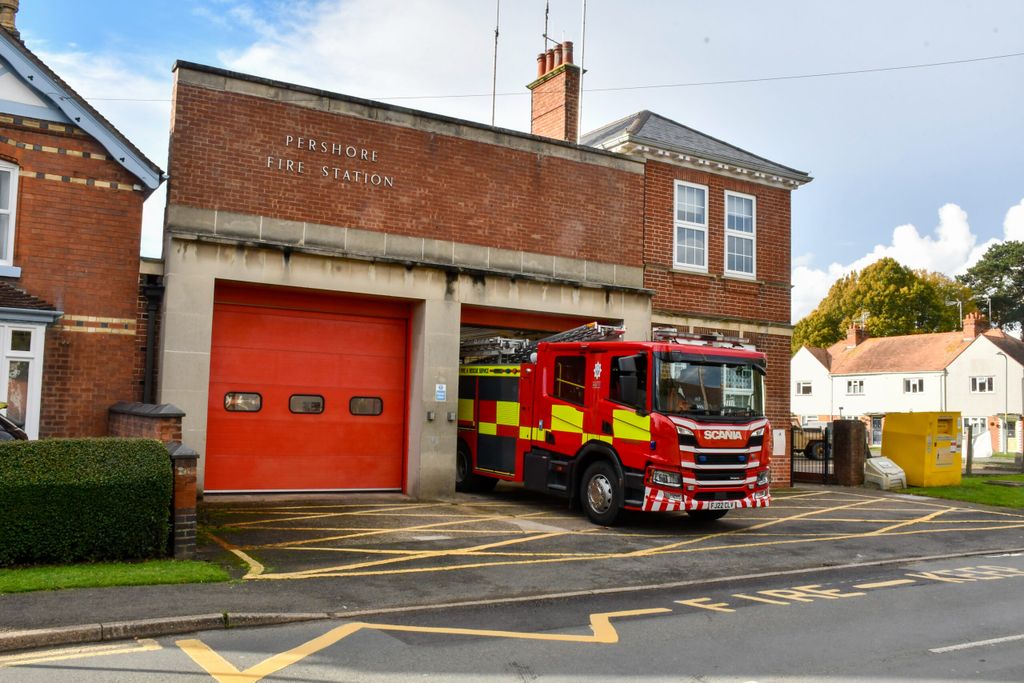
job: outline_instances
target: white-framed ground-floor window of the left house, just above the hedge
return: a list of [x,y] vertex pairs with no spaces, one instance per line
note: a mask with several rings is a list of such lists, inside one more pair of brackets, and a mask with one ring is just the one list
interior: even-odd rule
[[7,419],[29,438],[39,437],[39,405],[43,375],[42,326],[0,325],[0,401]]

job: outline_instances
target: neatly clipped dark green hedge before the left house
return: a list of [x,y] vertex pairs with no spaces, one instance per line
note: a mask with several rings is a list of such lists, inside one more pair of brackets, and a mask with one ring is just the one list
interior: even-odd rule
[[0,566],[166,555],[171,477],[153,439],[0,442]]

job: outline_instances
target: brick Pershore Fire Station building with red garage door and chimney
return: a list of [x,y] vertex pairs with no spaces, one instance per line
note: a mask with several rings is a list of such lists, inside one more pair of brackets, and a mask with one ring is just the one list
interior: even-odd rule
[[450,495],[466,335],[742,336],[788,423],[810,177],[649,112],[578,144],[571,44],[538,63],[530,134],[176,65],[159,396],[207,493]]

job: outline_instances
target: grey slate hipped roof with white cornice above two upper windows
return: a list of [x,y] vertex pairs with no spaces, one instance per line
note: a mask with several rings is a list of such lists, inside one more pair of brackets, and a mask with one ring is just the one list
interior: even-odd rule
[[742,168],[763,171],[799,182],[810,182],[804,171],[783,166],[745,150],[644,110],[584,135],[581,144],[605,148],[622,142],[647,144],[659,150],[694,155]]

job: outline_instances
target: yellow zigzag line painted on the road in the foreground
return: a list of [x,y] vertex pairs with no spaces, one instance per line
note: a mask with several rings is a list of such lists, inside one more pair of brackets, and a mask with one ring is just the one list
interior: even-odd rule
[[326,647],[344,640],[348,636],[364,630],[374,631],[396,631],[404,633],[431,633],[450,636],[475,636],[482,638],[512,638],[517,640],[544,640],[549,642],[563,643],[598,643],[611,645],[618,642],[618,632],[611,625],[612,618],[626,616],[643,616],[647,614],[664,614],[671,612],[666,607],[653,609],[632,609],[629,611],[600,612],[590,615],[590,629],[592,635],[570,635],[557,633],[527,633],[519,631],[493,631],[488,629],[454,629],[442,627],[425,626],[401,626],[398,624],[369,624],[364,622],[353,622],[332,629],[322,636],[317,636],[310,641],[294,647],[280,654],[260,661],[259,664],[239,671],[227,659],[217,653],[213,648],[202,640],[179,640],[177,641],[185,654],[203,668],[210,676],[219,683],[254,683],[266,676],[275,674],[293,664],[304,659],[310,654],[314,654]]

